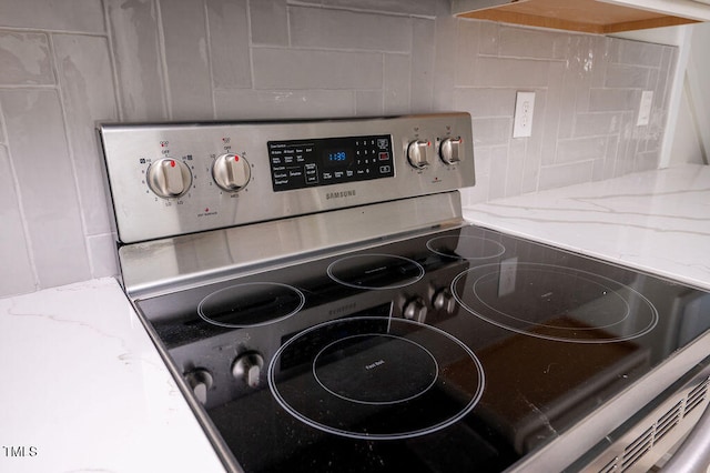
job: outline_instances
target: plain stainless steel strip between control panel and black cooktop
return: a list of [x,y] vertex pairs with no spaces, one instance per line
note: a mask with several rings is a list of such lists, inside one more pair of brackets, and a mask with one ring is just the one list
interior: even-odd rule
[[[457,191],[121,246],[131,299],[288,263],[326,249],[463,223]],[[399,236],[402,238],[402,236]]]

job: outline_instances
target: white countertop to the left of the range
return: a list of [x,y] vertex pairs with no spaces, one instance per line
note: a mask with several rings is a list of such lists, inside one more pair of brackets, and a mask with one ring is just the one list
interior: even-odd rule
[[0,300],[0,471],[224,471],[118,282]]

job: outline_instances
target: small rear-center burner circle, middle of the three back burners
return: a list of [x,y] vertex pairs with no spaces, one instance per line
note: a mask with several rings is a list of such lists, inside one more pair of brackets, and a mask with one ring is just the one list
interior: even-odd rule
[[424,276],[416,261],[390,254],[354,254],[334,261],[327,269],[336,282],[356,289],[396,289]]

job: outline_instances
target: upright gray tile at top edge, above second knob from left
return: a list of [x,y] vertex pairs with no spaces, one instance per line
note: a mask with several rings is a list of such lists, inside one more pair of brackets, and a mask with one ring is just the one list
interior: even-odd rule
[[206,0],[215,88],[252,85],[246,0]]

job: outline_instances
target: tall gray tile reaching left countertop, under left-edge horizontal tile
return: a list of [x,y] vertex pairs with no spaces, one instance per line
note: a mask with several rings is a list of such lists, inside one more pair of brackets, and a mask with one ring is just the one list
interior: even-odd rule
[[87,280],[91,273],[59,97],[53,90],[0,90],[0,103],[39,284]]

